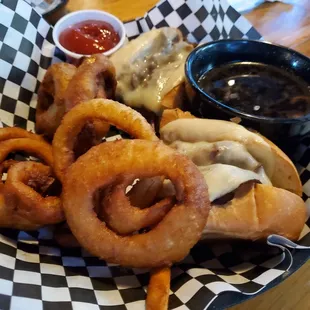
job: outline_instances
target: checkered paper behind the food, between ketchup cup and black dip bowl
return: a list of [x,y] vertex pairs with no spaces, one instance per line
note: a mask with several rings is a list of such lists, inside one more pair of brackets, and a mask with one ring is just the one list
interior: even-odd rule
[[178,28],[190,42],[206,43],[220,39],[261,39],[253,26],[226,0],[165,0],[143,18],[126,23],[129,39],[152,28]]

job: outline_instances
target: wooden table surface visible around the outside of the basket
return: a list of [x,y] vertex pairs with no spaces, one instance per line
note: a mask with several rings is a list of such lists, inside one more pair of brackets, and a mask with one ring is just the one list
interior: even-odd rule
[[[294,2],[294,0],[292,0]],[[142,16],[157,0],[71,0],[49,17],[55,22],[62,15],[82,9],[101,9],[123,21]],[[286,45],[310,56],[310,0],[295,0],[294,5],[265,3],[246,14],[268,41]],[[310,261],[285,282],[231,310],[307,310],[310,309]]]

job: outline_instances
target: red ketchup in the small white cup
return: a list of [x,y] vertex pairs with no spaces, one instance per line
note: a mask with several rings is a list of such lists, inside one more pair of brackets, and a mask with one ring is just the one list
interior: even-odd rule
[[59,42],[64,48],[83,55],[106,52],[119,41],[120,37],[112,25],[100,20],[77,23],[59,36]]

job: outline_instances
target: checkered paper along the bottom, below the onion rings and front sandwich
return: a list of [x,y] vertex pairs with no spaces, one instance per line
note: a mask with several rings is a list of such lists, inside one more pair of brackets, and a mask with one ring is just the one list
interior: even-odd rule
[[[148,270],[107,265],[83,249],[59,248],[52,236],[46,228],[2,231],[0,293],[11,308],[0,297],[1,309],[144,309]],[[204,309],[221,292],[251,295],[264,288],[290,260],[260,247],[197,245],[172,268],[170,308]]]

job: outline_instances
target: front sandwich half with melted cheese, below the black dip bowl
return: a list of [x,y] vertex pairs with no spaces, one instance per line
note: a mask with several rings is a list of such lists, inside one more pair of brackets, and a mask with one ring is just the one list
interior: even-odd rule
[[[199,167],[212,209],[204,238],[297,240],[306,220],[302,184],[291,160],[272,142],[233,122],[165,110],[160,137]],[[165,182],[160,196],[173,194]]]

